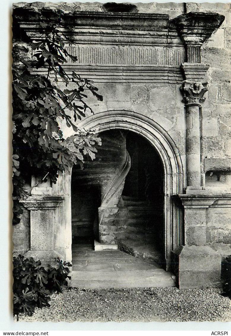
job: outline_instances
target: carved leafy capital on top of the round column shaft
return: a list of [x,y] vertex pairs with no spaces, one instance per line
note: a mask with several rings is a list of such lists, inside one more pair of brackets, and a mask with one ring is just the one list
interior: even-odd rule
[[204,94],[208,91],[208,83],[183,81],[180,91],[183,95],[183,102],[185,106],[198,106],[201,107],[200,102],[205,101]]

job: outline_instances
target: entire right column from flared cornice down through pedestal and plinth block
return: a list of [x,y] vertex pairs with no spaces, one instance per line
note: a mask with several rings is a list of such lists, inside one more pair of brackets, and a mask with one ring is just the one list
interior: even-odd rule
[[180,87],[186,112],[186,194],[178,195],[184,207],[184,246],[173,251],[174,272],[180,288],[215,287],[221,281],[221,254],[206,245],[206,209],[216,200],[202,190],[200,160],[200,111],[208,91],[201,64],[200,48],[217,30],[224,16],[217,13],[189,12],[174,19],[185,47],[186,62],[181,64],[184,81]]

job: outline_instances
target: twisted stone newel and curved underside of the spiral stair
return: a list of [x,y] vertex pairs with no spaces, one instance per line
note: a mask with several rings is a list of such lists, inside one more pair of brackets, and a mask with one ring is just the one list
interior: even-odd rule
[[[101,200],[98,208],[98,233],[100,243],[115,243],[115,219],[119,208],[125,177],[130,169],[131,160],[126,151],[126,138],[122,131],[110,131],[110,136],[102,135],[102,146],[98,146],[94,161],[86,161],[84,169],[76,169],[72,173],[73,184],[97,185],[100,189]],[[73,191],[72,191],[73,193]],[[74,205],[72,205],[72,212]],[[88,206],[85,206],[85,210]],[[83,209],[84,212],[84,209]],[[88,216],[88,211],[82,213],[81,219]],[[97,222],[97,220],[96,220]],[[81,230],[83,220],[72,217],[72,226]],[[83,229],[83,228],[82,228]],[[94,228],[96,231],[96,228]]]

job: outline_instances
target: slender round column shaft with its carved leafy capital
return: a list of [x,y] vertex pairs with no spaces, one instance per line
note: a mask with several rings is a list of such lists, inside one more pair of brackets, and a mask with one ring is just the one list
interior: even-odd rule
[[187,187],[201,189],[200,174],[200,101],[208,91],[207,83],[185,80],[181,86],[186,108],[186,177]]

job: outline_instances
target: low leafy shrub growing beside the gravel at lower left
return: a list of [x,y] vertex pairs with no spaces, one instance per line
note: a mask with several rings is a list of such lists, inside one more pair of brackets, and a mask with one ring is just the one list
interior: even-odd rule
[[25,258],[20,254],[13,258],[13,312],[31,316],[36,307],[50,306],[50,293],[61,292],[67,285],[70,263],[55,259],[58,267],[48,265],[45,269],[41,261]]

